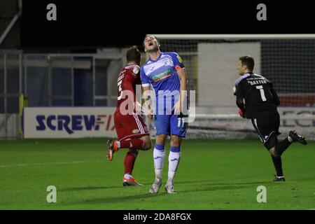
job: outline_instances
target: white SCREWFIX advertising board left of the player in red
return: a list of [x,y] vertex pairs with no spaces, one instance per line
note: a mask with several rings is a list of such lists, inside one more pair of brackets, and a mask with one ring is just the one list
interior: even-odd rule
[[25,139],[116,137],[114,107],[26,107]]

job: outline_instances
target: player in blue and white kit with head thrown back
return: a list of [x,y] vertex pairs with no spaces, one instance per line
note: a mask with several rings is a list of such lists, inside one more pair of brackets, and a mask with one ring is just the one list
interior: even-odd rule
[[[181,57],[176,52],[161,52],[155,36],[146,36],[144,50],[149,59],[141,67],[141,82],[144,93],[153,88],[155,92],[154,123],[156,142],[153,151],[155,181],[150,193],[158,193],[162,186],[162,168],[165,161],[165,141],[171,137],[169,172],[165,185],[167,193],[174,190],[174,176],[181,157],[181,139],[186,137],[187,123],[183,109],[186,105],[187,73]],[[153,118],[153,113],[148,114]]]

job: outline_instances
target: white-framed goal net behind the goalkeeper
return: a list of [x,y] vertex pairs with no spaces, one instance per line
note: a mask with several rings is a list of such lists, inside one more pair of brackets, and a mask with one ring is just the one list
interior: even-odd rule
[[251,121],[237,114],[232,87],[240,56],[255,58],[254,72],[274,83],[281,105],[280,132],[297,130],[315,140],[315,35],[155,35],[163,52],[177,52],[195,90],[195,122],[188,137],[255,138]]

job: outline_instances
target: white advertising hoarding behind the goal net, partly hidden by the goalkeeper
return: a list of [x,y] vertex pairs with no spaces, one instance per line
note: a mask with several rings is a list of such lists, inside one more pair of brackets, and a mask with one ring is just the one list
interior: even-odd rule
[[[279,139],[287,137],[290,130],[296,130],[307,140],[315,140],[315,107],[279,106],[278,111],[279,132],[282,133]],[[196,116],[193,123],[188,124],[188,138],[258,139],[251,120],[241,118],[237,113],[237,106],[197,107],[196,112],[199,116]]]

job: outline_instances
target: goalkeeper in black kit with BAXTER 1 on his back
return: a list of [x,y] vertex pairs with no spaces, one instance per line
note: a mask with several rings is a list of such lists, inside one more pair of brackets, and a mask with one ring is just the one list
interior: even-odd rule
[[288,137],[278,141],[280,116],[276,109],[279,97],[267,78],[253,73],[254,59],[251,56],[239,57],[237,70],[239,77],[233,87],[239,115],[251,119],[253,127],[258,133],[262,144],[272,155],[272,162],[276,169],[274,181],[286,181],[283,176],[281,155],[295,141],[303,145],[307,141],[295,130],[290,131]]

